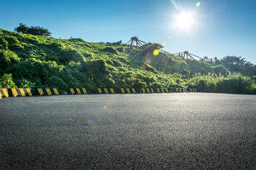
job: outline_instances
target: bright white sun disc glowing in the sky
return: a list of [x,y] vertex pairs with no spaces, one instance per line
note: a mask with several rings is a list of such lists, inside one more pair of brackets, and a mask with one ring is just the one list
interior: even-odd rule
[[182,12],[178,16],[176,16],[175,25],[178,28],[188,29],[193,23],[194,23],[194,21],[193,21],[193,14],[192,13]]

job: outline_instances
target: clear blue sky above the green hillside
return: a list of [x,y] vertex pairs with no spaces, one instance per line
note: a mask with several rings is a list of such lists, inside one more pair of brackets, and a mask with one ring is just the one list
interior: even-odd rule
[[[173,53],[235,55],[256,64],[255,0],[0,0],[0,7],[4,30],[23,23],[48,28],[54,38],[88,42],[127,42],[137,35]],[[176,26],[181,12],[193,14],[190,26]]]

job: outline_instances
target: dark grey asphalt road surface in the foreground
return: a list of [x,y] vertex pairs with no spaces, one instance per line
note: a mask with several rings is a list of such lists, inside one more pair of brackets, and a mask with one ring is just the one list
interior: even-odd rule
[[0,109],[0,169],[256,169],[256,96],[31,96]]

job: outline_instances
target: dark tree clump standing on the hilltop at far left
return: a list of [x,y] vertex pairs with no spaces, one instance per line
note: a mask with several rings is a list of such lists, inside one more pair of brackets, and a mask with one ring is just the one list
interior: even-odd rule
[[44,37],[50,37],[50,35],[52,34],[47,28],[43,28],[40,26],[27,27],[23,23],[20,23],[17,28],[14,28],[14,31],[16,31],[17,33],[26,33],[26,34],[39,35]]

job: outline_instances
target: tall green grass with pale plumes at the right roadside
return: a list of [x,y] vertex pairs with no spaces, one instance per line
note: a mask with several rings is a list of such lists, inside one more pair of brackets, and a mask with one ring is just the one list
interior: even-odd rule
[[217,75],[215,73],[195,74],[188,81],[189,86],[198,88],[198,91],[227,93],[227,94],[256,94],[255,81],[240,73]]

